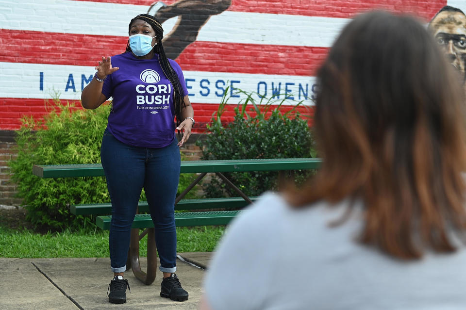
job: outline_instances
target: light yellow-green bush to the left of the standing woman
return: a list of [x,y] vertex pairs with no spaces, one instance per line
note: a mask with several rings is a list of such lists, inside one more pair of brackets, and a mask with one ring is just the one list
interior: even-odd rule
[[[63,105],[57,99],[49,107],[50,114],[43,122],[24,117],[17,131],[18,155],[10,161],[17,196],[24,199],[27,220],[36,227],[63,230],[94,226],[91,217],[71,214],[69,205],[109,202],[104,177],[41,179],[33,176],[32,167],[33,164],[100,163],[100,143],[109,106],[83,110]],[[181,175],[179,192],[194,177]],[[143,193],[141,200],[144,199]]]

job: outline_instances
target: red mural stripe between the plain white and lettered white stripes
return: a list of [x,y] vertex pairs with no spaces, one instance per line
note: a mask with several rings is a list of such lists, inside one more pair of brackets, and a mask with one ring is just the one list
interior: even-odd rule
[[[0,62],[95,66],[101,56],[123,52],[127,38],[0,29],[0,42]],[[327,51],[302,46],[194,42],[177,62],[185,71],[313,76]]]

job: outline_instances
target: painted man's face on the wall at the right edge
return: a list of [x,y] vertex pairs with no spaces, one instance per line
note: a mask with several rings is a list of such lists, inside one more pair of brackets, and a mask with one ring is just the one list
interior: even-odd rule
[[462,76],[465,76],[466,61],[466,16],[460,9],[445,6],[429,23],[437,43]]

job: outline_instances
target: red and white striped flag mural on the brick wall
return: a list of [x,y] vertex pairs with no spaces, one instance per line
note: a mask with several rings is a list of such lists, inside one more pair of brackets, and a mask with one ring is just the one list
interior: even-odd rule
[[466,0],[0,0],[0,130],[47,113],[44,99],[79,100],[100,57],[124,52],[140,13],[163,21],[203,128],[227,86],[312,107],[316,69],[355,14],[387,9],[427,23],[445,5],[466,11]]

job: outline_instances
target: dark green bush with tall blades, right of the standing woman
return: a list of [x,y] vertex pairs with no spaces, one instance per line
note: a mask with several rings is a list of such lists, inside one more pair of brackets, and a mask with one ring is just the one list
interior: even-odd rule
[[[229,99],[225,95],[217,112],[212,115],[212,124],[207,126],[210,133],[203,142],[197,142],[202,147],[203,160],[314,157],[307,119],[296,110],[300,102],[291,111],[282,113],[280,107],[288,99],[262,97],[257,102],[254,99],[257,93],[238,92],[245,94],[246,98],[234,108],[233,122],[224,126],[221,121]],[[225,94],[228,93],[227,89]],[[272,109],[272,105],[277,106]],[[277,189],[278,173],[232,172],[224,175],[246,195],[258,196],[267,190]],[[295,180],[300,183],[310,173],[312,171],[295,171]],[[204,193],[208,197],[238,196],[216,177],[204,184]]]

